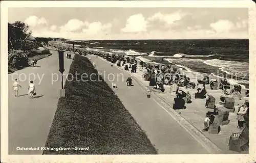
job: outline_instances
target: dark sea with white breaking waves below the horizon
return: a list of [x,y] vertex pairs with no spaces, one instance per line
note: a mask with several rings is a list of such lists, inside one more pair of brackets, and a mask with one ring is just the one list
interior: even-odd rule
[[152,61],[164,58],[188,71],[213,74],[249,87],[248,39],[76,40],[66,43]]

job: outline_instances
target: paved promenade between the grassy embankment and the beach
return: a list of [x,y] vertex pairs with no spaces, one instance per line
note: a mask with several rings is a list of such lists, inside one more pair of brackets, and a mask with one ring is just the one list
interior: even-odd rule
[[[132,114],[137,123],[146,132],[159,154],[205,154],[208,153],[176,120],[166,108],[161,107],[154,98],[147,98],[139,85],[126,86],[126,78],[131,77],[111,63],[99,57],[89,56],[96,63],[96,69],[105,76],[105,82],[110,86],[111,80],[117,84],[115,93]],[[118,75],[117,75],[118,74]],[[109,77],[108,77],[109,76]],[[119,76],[119,77],[118,77]]]

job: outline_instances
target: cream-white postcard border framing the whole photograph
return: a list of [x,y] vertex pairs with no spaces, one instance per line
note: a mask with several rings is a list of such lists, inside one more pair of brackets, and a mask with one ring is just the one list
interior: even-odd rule
[[[250,154],[221,155],[8,155],[8,51],[7,22],[10,7],[184,7],[248,8]],[[252,1],[1,1],[1,162],[255,162],[255,4]],[[193,150],[193,149],[191,149]],[[254,160],[254,161],[253,161]]]

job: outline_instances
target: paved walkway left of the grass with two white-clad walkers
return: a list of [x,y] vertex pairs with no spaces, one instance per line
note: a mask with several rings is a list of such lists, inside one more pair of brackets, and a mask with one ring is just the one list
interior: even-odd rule
[[[52,84],[52,74],[60,74],[58,53],[51,51],[52,56],[39,60],[38,67],[28,67],[8,75],[9,81],[9,154],[42,154],[39,151],[20,151],[17,147],[44,147],[52,120],[57,108],[59,89],[61,89],[60,77]],[[73,56],[72,56],[73,57]],[[65,58],[65,72],[69,72],[72,59]],[[37,95],[29,99],[27,94],[29,74],[34,80]],[[19,97],[14,97],[13,79],[17,78],[22,88],[19,88]],[[20,77],[18,77],[20,75]],[[44,75],[42,77],[42,75]],[[25,78],[25,76],[27,78]],[[42,77],[39,84],[38,76]],[[57,75],[53,75],[56,80]],[[25,80],[22,82],[21,80]]]

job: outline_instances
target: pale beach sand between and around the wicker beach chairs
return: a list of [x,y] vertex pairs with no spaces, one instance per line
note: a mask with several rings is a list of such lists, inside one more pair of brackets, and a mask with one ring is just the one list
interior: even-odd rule
[[[133,76],[135,76],[137,79],[139,79],[145,86],[149,86],[150,82],[145,81],[142,78],[142,71],[137,70],[136,73],[133,73]],[[188,77],[190,77],[190,81],[194,82],[197,84],[197,79],[203,79],[202,73],[199,72],[190,72],[190,71],[183,71],[183,74],[186,74]],[[170,86],[164,86],[165,91],[162,93],[159,90],[154,90],[152,87],[148,87],[152,91],[154,91],[159,97],[165,100],[165,102],[168,102],[170,106],[173,106],[174,104],[174,98],[176,95],[173,95],[170,93]],[[209,85],[205,85],[206,91],[208,95],[212,95],[215,97],[216,101],[215,104],[219,104],[220,96],[222,95],[222,90],[210,90]],[[191,103],[186,103],[185,109],[181,110],[175,110],[177,113],[180,113],[180,115],[185,118],[189,123],[194,125],[197,129],[200,131],[204,128],[204,119],[206,118],[206,113],[209,111],[205,107],[205,102],[206,99],[195,99],[195,93],[197,92],[197,87],[195,89],[186,89],[185,87],[180,87],[180,90],[184,92],[189,92],[191,95]],[[242,98],[241,100],[235,100],[235,106],[236,105],[242,105],[245,100],[248,100],[248,97],[245,97],[245,89],[242,89]],[[172,109],[172,108],[170,108]],[[213,111],[213,110],[212,110]],[[208,132],[203,132],[203,134],[211,140],[213,143],[215,143],[221,150],[223,150],[224,153],[238,153],[234,151],[229,151],[228,150],[228,141],[229,141],[229,136],[232,134],[232,132],[241,132],[241,129],[237,128],[238,125],[238,120],[237,118],[237,113],[238,111],[235,111],[234,113],[229,113],[229,124],[220,126],[221,131],[219,134],[210,134]],[[241,153],[248,153],[248,151],[244,151]]]

